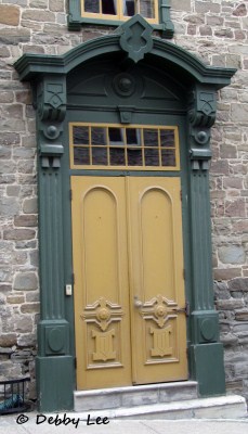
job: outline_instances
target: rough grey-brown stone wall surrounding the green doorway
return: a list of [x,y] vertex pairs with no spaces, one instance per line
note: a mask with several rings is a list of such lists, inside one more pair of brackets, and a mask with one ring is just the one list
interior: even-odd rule
[[[69,33],[66,0],[0,0],[0,379],[34,378],[39,315],[35,111],[12,64],[62,54],[112,31]],[[218,95],[211,204],[216,301],[226,379],[248,396],[248,2],[171,0],[173,42],[207,64],[237,67]],[[35,383],[30,386],[35,397]]]

